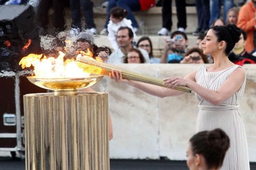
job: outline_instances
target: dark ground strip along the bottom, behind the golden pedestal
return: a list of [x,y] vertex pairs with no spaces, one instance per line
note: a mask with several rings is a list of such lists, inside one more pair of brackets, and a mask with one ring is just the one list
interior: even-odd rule
[[[111,159],[111,170],[188,170],[185,161],[170,160],[122,160]],[[25,170],[25,160],[13,160],[0,157],[0,170]],[[256,170],[256,163],[251,163],[251,170]]]

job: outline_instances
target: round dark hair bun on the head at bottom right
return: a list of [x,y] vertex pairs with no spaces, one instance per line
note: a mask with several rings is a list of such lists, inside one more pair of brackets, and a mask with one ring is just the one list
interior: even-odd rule
[[209,131],[206,135],[206,140],[209,145],[216,151],[227,151],[230,147],[228,135],[221,129],[214,129]]

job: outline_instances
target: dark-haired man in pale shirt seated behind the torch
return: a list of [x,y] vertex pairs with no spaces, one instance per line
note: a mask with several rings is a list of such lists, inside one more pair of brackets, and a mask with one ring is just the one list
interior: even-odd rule
[[[117,31],[116,40],[117,40],[119,49],[109,56],[107,63],[110,63],[110,64],[123,63],[125,55],[127,55],[129,50],[133,48],[132,29],[129,27],[120,27]],[[139,49],[139,50],[145,59],[145,63],[150,63],[149,56],[146,50],[144,49]]]

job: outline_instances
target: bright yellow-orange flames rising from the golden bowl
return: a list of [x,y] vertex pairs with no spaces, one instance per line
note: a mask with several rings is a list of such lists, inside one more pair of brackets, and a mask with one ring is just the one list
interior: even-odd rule
[[[94,60],[92,58],[93,54],[89,49],[87,53],[79,52],[77,57],[81,55]],[[29,54],[21,59],[19,65],[21,65],[22,69],[34,66],[34,73],[37,78],[85,78],[89,77],[90,73],[100,74],[102,72],[100,68],[93,69],[92,72],[90,65],[81,65],[80,62],[76,61],[76,58],[64,60],[64,57],[65,54],[62,52],[59,52],[57,58],[46,57],[42,54]],[[99,58],[97,60],[100,61]]]

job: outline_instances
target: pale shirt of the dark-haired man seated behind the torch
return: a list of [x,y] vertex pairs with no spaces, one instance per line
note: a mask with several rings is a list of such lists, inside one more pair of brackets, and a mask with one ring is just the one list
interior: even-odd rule
[[[146,50],[144,50],[144,49],[139,49],[139,50],[145,59],[145,63],[150,63],[149,55],[146,52]],[[122,52],[122,50],[119,48],[109,56],[107,63],[109,63],[109,64],[124,63],[124,58],[125,58],[125,55]]]

